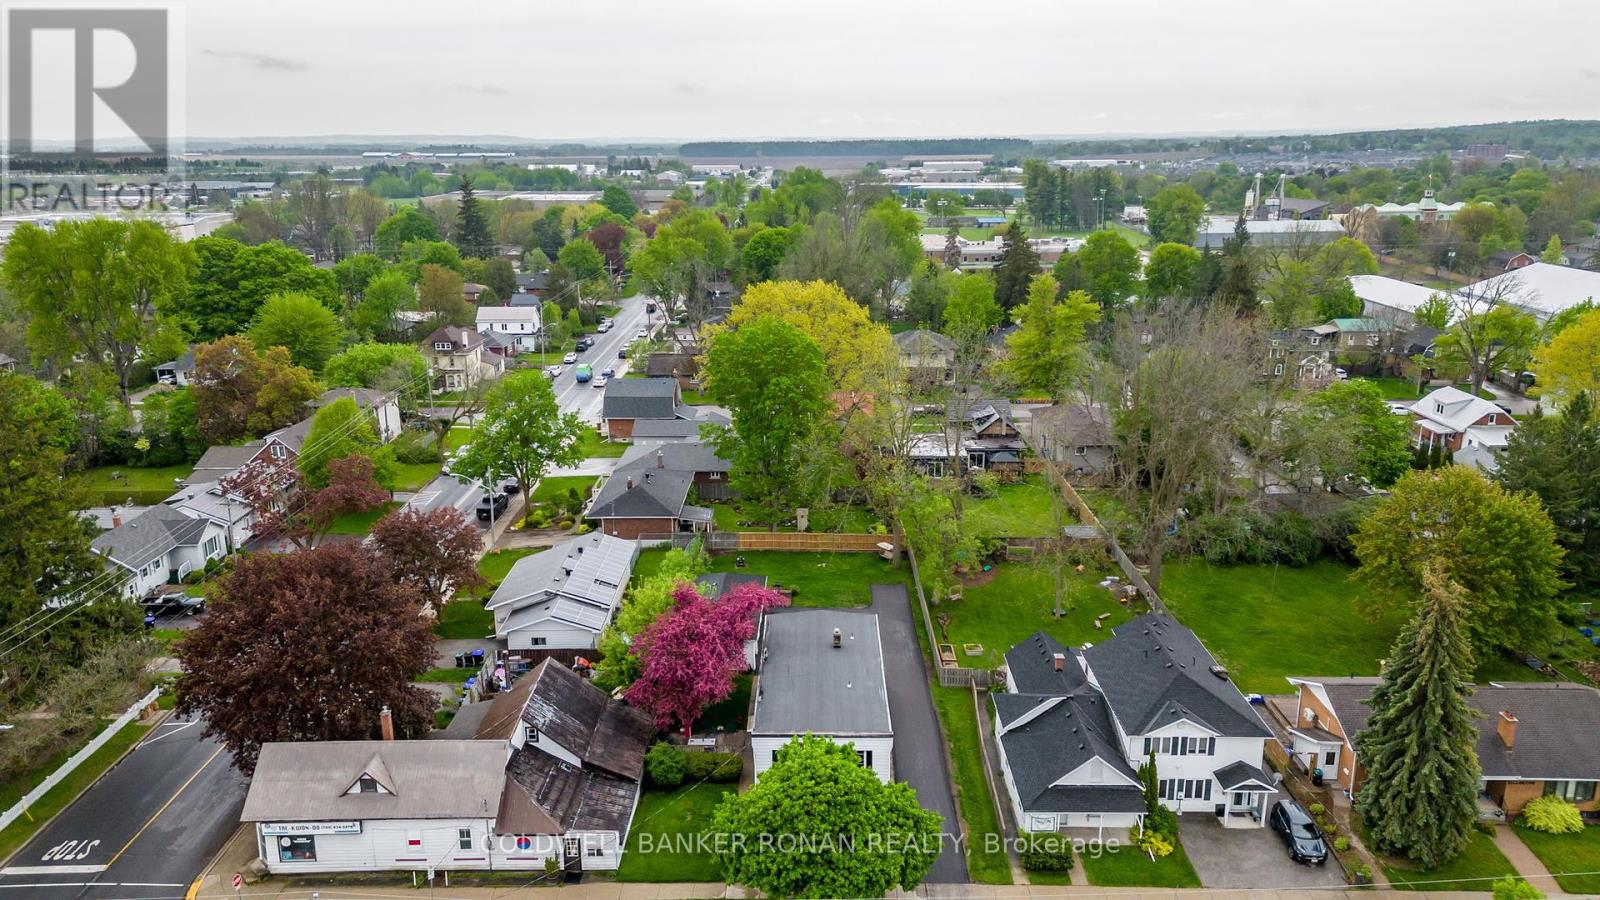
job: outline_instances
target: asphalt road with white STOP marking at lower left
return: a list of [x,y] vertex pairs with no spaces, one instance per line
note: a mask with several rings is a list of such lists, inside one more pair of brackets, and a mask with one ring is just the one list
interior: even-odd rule
[[182,897],[238,826],[245,778],[168,719],[0,870],[0,897]]

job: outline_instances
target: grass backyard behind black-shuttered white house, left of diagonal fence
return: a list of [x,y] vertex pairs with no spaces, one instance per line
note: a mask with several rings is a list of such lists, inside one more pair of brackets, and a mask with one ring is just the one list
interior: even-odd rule
[[[1053,567],[1032,562],[1002,562],[989,573],[990,580],[965,588],[960,601],[942,602],[928,612],[933,613],[936,628],[941,615],[950,618],[949,628],[941,631],[941,641],[955,644],[958,666],[994,668],[1002,663],[1006,650],[1035,631],[1045,631],[1069,647],[1110,637],[1110,629],[1133,618],[1133,612],[1099,586],[1107,572],[1086,570],[1078,575],[1067,570],[1067,615],[1062,618],[1054,617]],[[1144,604],[1139,602],[1139,607]],[[1110,615],[1102,628],[1094,628],[1094,620],[1102,613]],[[963,644],[982,644],[982,655],[968,657]]]

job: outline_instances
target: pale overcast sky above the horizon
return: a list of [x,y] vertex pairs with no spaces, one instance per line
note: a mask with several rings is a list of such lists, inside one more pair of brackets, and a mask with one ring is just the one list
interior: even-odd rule
[[198,0],[194,136],[1334,131],[1600,117],[1595,0]]

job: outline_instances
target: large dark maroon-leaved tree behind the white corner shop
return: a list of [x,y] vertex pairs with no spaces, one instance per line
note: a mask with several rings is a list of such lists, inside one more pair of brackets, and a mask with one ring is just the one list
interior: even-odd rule
[[178,711],[202,714],[246,775],[267,741],[373,738],[384,708],[421,737],[438,705],[413,684],[434,665],[422,602],[358,543],[243,556],[178,644]]

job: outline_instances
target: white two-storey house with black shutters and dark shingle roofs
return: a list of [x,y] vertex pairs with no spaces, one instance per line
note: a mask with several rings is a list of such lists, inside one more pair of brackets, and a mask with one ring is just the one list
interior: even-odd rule
[[1006,653],[994,697],[1006,794],[1024,831],[1130,828],[1138,767],[1155,753],[1168,809],[1261,826],[1275,780],[1272,732],[1192,631],[1165,615],[1066,647],[1037,633]]

